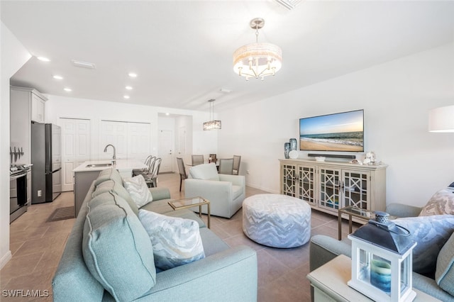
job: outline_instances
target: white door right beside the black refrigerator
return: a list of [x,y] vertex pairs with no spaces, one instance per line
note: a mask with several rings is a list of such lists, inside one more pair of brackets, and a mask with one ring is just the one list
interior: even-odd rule
[[90,121],[60,118],[62,126],[62,191],[74,190],[74,173],[82,162],[90,160]]

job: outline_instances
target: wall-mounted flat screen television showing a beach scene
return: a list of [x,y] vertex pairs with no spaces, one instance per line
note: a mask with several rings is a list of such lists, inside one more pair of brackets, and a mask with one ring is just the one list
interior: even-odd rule
[[299,150],[364,152],[364,110],[300,118]]

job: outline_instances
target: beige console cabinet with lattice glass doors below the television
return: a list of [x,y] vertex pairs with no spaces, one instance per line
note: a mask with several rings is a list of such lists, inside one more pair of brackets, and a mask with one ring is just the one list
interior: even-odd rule
[[301,198],[318,211],[338,216],[338,210],[345,206],[368,211],[384,211],[386,207],[386,164],[311,159],[279,162],[280,193]]

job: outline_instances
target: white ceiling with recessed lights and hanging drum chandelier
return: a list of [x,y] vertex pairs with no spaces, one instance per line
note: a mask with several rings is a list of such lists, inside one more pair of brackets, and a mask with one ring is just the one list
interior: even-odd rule
[[[0,11],[32,55],[52,60],[32,57],[13,85],[204,111],[209,99],[215,111],[234,108],[454,41],[454,1],[303,1],[289,11],[272,0],[1,0]],[[255,41],[255,17],[265,19],[259,41],[282,48],[282,69],[246,82],[233,73],[232,54]],[[131,71],[138,77],[129,78]]]

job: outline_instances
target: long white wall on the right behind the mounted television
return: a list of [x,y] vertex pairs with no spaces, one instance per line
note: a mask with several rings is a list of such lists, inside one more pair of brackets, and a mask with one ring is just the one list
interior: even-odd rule
[[278,192],[278,159],[299,118],[363,108],[365,150],[389,164],[387,203],[423,206],[454,181],[454,133],[427,131],[428,110],[454,104],[453,54],[450,43],[224,111],[218,150],[243,156],[249,186]]

